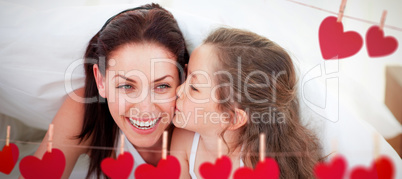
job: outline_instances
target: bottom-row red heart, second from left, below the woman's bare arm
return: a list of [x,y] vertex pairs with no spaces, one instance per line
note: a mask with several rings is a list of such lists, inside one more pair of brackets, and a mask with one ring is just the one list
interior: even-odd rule
[[26,179],[55,178],[60,179],[66,166],[66,158],[61,150],[53,148],[45,152],[42,160],[34,156],[26,156],[20,162],[20,172]]

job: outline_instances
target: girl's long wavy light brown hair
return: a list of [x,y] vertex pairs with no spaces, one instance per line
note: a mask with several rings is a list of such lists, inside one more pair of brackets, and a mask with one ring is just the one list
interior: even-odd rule
[[266,154],[277,161],[280,178],[314,178],[321,147],[301,124],[296,72],[288,53],[265,37],[239,29],[217,29],[204,44],[218,55],[215,70],[226,72],[215,76],[216,84],[231,84],[216,92],[223,101],[220,110],[232,116],[235,108],[247,113],[235,146],[243,148],[246,165],[258,163],[259,135],[264,133]]

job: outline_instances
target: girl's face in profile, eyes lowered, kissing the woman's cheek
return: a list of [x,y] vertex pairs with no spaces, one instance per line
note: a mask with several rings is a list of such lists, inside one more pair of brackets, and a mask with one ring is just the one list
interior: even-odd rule
[[188,64],[188,77],[177,88],[173,124],[179,128],[204,133],[219,133],[229,115],[218,109],[216,90],[222,87],[213,78],[218,57],[211,45],[196,48]]

